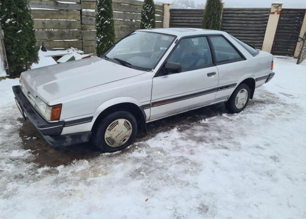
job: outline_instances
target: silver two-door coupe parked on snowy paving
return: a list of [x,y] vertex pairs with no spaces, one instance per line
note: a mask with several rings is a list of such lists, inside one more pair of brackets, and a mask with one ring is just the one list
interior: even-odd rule
[[272,69],[270,53],[225,32],[139,30],[98,57],[23,72],[13,91],[50,145],[114,152],[151,121],[218,102],[241,112]]

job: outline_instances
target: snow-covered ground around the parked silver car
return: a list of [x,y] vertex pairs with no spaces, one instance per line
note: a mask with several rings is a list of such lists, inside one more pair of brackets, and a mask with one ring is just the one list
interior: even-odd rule
[[0,218],[306,218],[306,66],[274,62],[240,114],[202,108],[55,167],[24,147],[18,79],[0,81]]

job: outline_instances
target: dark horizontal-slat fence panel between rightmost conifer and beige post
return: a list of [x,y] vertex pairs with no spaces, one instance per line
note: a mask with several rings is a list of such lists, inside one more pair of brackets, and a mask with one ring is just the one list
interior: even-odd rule
[[221,31],[261,49],[270,8],[224,8]]

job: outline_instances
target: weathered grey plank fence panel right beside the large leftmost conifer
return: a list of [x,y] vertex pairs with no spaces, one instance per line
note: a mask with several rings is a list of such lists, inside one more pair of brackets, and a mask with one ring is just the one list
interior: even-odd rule
[[31,0],[37,44],[48,49],[75,47],[82,49],[82,21],[80,0]]

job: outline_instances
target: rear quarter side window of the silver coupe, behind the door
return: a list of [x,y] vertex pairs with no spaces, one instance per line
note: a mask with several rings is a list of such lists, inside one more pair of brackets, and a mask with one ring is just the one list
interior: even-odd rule
[[240,61],[242,57],[238,51],[222,36],[211,36],[216,62]]

